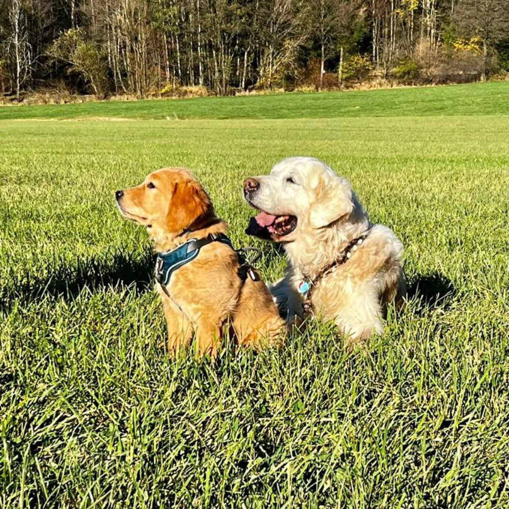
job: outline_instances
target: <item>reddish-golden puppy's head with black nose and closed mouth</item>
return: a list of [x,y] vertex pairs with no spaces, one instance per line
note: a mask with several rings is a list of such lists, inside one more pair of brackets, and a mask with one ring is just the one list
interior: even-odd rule
[[214,216],[208,194],[187,169],[161,168],[139,186],[115,192],[124,217],[151,229],[151,235],[182,233]]

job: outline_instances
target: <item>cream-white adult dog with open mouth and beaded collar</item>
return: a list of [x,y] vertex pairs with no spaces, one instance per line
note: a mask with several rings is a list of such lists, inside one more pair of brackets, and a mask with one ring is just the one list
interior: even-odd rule
[[286,275],[271,292],[289,323],[312,313],[350,342],[383,331],[385,306],[406,292],[403,245],[371,223],[346,179],[318,159],[290,157],[246,179],[244,197],[260,211],[246,233],[284,244]]

